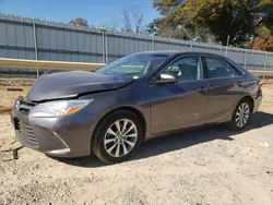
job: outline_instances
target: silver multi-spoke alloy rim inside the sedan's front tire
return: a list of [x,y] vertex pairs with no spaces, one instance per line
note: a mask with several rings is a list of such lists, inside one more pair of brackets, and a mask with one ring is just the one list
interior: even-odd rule
[[129,119],[120,119],[106,131],[104,147],[111,157],[123,157],[132,150],[136,140],[136,125]]

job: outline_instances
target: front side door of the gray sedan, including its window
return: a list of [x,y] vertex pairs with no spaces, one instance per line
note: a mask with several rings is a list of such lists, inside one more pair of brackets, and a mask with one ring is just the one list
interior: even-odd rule
[[157,134],[203,124],[209,84],[203,80],[200,58],[181,57],[163,73],[176,75],[179,82],[150,86],[151,132]]

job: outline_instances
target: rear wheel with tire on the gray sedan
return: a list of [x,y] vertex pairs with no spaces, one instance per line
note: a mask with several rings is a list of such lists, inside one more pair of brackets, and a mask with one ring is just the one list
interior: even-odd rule
[[234,110],[232,121],[227,124],[227,126],[234,131],[244,130],[248,124],[251,116],[251,106],[252,105],[247,99],[242,99],[241,101],[239,101]]

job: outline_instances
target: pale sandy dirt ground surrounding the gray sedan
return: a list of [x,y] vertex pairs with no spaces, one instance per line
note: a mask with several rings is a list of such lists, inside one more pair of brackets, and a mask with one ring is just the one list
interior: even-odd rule
[[[24,85],[24,92],[29,86]],[[22,92],[0,86],[2,106]],[[2,93],[1,93],[2,92]],[[273,86],[244,132],[223,125],[145,142],[127,162],[94,156],[56,159],[29,148],[1,152],[14,141],[0,114],[0,204],[273,204]],[[3,101],[4,100],[4,101]]]

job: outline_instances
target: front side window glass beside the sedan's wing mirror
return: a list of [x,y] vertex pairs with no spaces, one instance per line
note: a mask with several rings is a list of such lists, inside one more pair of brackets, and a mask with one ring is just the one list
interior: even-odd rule
[[198,56],[182,57],[171,63],[163,73],[175,75],[179,82],[202,79]]

